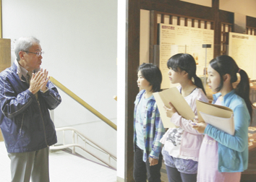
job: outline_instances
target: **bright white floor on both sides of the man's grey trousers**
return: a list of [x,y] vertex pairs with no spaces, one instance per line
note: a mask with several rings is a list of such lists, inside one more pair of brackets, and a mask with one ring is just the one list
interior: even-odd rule
[[[0,142],[1,182],[11,181],[10,160],[4,142]],[[116,170],[99,165],[90,160],[69,154],[62,150],[50,152],[51,182],[114,182]]]

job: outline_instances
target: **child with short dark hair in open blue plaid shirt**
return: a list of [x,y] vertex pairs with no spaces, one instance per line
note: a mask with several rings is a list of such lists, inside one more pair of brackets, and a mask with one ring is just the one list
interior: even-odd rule
[[161,88],[162,74],[153,64],[142,64],[138,69],[140,92],[135,100],[134,170],[135,181],[161,182],[162,144],[165,129],[153,96]]

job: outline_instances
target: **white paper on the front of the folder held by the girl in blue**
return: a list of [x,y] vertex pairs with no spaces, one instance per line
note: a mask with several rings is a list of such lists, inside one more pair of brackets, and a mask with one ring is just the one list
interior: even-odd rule
[[212,116],[207,113],[202,113],[199,111],[202,119],[209,123],[210,125],[215,126],[217,129],[225,131],[228,134],[234,135],[234,117],[233,114],[230,118],[221,118],[217,116]]

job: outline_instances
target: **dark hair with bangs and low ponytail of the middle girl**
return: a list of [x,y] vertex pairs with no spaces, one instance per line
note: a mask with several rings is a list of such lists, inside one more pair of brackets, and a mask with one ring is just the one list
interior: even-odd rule
[[171,68],[174,71],[179,71],[178,68],[182,71],[186,71],[189,75],[189,79],[192,79],[193,77],[195,80],[195,85],[201,88],[202,91],[205,93],[205,89],[202,85],[202,80],[197,77],[196,74],[197,64],[195,63],[195,58],[193,58],[193,56],[188,53],[177,53],[168,59],[167,67],[168,69]]

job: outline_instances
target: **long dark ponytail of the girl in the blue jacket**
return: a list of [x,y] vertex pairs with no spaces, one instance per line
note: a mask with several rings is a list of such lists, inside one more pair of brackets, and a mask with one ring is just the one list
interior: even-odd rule
[[[238,73],[240,74],[241,80],[239,84],[237,84],[235,88],[235,92],[237,95],[244,99],[244,102],[247,105],[247,109],[249,111],[249,116],[252,118],[252,102],[249,100],[249,77],[247,73],[243,69],[239,69]],[[252,119],[251,119],[252,122]]]

